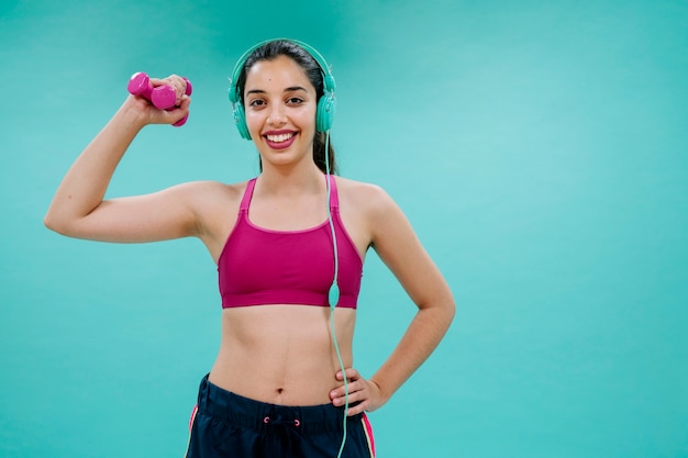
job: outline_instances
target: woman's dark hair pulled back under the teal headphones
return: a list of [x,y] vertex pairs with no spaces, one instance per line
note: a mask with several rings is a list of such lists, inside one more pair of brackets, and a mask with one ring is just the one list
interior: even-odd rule
[[[319,101],[324,93],[323,89],[323,71],[320,68],[320,64],[298,44],[287,40],[276,40],[268,42],[263,46],[256,48],[246,58],[244,68],[242,68],[238,78],[236,79],[236,88],[241,98],[241,103],[244,103],[244,88],[246,87],[246,74],[256,63],[260,60],[274,60],[279,56],[289,57],[297,63],[299,67],[303,69],[306,76],[311,81],[311,85],[315,88],[315,100]],[[330,159],[330,172],[336,174],[337,167],[334,158],[334,147],[332,146],[332,139],[329,145],[329,159]],[[325,133],[315,132],[313,138],[313,161],[322,172],[326,172],[325,166]],[[263,164],[260,164],[263,169]]]

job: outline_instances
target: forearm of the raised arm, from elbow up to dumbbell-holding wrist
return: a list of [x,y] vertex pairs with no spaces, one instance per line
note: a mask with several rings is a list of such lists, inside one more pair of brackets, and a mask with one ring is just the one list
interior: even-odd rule
[[127,100],[89,143],[65,175],[45,215],[49,228],[68,233],[101,202],[114,169],[144,125]]

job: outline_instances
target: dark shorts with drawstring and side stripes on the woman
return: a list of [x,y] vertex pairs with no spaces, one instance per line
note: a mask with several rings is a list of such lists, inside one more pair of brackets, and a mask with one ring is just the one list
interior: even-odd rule
[[[287,406],[240,396],[201,381],[189,424],[187,458],[336,458],[344,438],[344,409]],[[346,420],[342,458],[374,458],[365,413]]]

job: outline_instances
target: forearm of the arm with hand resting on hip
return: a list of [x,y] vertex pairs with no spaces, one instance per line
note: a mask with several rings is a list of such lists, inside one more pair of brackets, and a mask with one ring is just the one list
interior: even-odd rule
[[454,303],[419,310],[403,337],[370,378],[385,402],[406,382],[437,347],[454,317]]

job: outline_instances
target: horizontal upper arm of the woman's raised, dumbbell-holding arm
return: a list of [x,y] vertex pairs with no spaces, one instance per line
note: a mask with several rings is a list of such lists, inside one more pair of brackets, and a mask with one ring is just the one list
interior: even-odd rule
[[195,235],[195,186],[102,201],[75,221],[65,235],[100,242],[141,243]]

